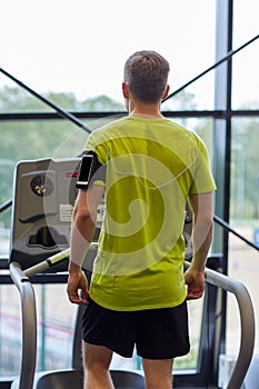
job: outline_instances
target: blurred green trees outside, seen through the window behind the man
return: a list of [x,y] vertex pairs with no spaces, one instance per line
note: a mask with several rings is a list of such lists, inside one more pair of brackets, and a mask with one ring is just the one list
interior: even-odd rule
[[[49,92],[44,96],[57,106],[69,111],[124,112],[124,106],[102,94],[79,101],[74,93]],[[167,109],[195,109],[195,97],[186,91],[162,104]],[[0,111],[51,111],[50,107],[21,88],[0,89]],[[94,130],[112,118],[89,120]],[[185,126],[191,119],[181,119]],[[195,119],[195,130],[209,147],[212,156],[211,119]],[[231,209],[232,218],[258,217],[259,137],[258,119],[233,119],[231,162]],[[0,205],[12,197],[12,176],[18,161],[39,158],[74,157],[84,148],[88,133],[69,120],[13,120],[0,121]],[[213,161],[217,163],[217,161]]]

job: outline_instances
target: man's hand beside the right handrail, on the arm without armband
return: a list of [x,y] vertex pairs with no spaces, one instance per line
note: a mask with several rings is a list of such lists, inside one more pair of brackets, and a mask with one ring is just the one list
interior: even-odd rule
[[187,285],[187,299],[193,300],[202,297],[205,291],[205,272],[191,268],[185,272],[185,280]]

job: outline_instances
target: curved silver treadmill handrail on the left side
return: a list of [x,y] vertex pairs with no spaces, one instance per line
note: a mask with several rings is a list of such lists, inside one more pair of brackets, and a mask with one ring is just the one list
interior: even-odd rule
[[10,276],[19,290],[22,317],[22,353],[19,376],[19,389],[33,387],[37,358],[37,310],[36,297],[29,278],[24,276],[20,263],[10,263]]

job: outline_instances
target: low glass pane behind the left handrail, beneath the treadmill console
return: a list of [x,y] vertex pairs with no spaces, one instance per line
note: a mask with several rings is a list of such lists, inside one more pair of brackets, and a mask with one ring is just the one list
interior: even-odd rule
[[[37,370],[71,367],[76,306],[64,285],[34,286],[37,301]],[[14,285],[0,286],[0,376],[18,375],[21,363],[21,308]]]

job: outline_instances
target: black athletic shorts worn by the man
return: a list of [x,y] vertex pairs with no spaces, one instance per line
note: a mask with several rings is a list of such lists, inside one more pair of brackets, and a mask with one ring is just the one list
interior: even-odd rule
[[131,358],[136,347],[146,359],[171,359],[189,352],[187,302],[178,307],[114,311],[90,300],[82,318],[82,339]]

